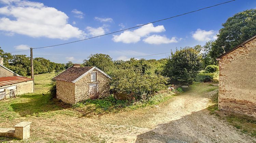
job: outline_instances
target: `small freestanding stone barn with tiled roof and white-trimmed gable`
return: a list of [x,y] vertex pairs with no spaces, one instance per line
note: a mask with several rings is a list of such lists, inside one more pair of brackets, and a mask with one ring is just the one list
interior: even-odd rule
[[109,96],[110,78],[97,67],[74,64],[53,79],[56,80],[57,98],[75,104],[86,99]]

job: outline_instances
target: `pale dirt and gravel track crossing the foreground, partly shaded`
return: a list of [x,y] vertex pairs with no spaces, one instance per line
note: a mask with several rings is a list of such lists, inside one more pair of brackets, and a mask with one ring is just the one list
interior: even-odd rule
[[[214,86],[200,83],[158,106],[84,117],[33,117],[29,142],[256,142],[205,109]],[[215,86],[216,89],[216,86]],[[16,121],[19,122],[19,121]]]

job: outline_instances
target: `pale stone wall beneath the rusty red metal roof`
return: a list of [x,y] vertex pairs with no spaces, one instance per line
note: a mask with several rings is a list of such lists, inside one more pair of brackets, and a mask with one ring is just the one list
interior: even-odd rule
[[[5,89],[5,88],[8,88],[10,86],[15,86],[15,85],[16,85],[16,89],[14,90],[15,95],[20,95],[20,94],[25,94],[25,93],[33,93],[33,86],[34,86],[33,80],[0,86],[0,89]],[[6,89],[6,98],[10,97],[9,92],[10,92],[10,90]]]

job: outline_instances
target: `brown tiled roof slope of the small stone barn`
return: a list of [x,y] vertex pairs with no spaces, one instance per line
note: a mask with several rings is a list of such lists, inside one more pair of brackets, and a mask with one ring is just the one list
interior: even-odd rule
[[53,79],[72,82],[88,72],[93,67],[70,67]]

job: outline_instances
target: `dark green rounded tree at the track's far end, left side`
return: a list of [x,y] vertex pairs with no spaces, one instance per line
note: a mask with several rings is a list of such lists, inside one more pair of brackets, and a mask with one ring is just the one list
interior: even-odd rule
[[202,56],[199,51],[185,47],[169,57],[164,75],[170,78],[170,84],[192,84],[202,66]]

